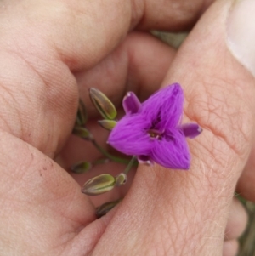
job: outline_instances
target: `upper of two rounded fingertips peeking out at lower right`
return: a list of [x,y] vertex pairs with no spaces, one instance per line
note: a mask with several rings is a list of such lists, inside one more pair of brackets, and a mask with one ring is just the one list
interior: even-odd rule
[[230,206],[229,219],[225,230],[225,241],[236,239],[244,232],[248,221],[245,208],[236,198]]

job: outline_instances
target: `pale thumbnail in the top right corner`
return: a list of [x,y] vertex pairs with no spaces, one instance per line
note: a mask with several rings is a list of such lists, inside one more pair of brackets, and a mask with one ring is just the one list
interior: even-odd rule
[[255,1],[236,0],[227,21],[230,52],[255,77]]

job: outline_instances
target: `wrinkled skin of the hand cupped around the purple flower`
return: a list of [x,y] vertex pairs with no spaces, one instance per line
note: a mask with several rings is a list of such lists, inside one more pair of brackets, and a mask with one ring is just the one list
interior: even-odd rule
[[[1,255],[235,255],[246,224],[233,201],[236,184],[255,198],[255,87],[224,42],[231,2],[211,2],[1,2]],[[177,53],[147,33],[190,29],[196,21]],[[190,171],[139,166],[122,189],[83,195],[75,179],[82,184],[123,166],[75,179],[65,171],[99,157],[71,136],[79,94],[97,118],[89,87],[121,106],[127,90],[144,100],[173,82],[184,88],[184,122],[204,128],[189,140]],[[105,141],[96,122],[88,127]],[[126,193],[95,219],[94,205]]]

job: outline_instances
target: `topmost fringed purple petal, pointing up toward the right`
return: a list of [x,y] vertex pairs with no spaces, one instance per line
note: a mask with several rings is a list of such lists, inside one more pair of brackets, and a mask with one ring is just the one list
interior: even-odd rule
[[144,101],[142,113],[152,121],[152,129],[163,132],[178,125],[182,117],[183,104],[183,90],[178,83],[173,83]]

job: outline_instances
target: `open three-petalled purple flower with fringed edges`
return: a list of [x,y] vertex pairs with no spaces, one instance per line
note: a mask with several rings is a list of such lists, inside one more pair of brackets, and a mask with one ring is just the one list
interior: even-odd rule
[[190,151],[185,137],[201,134],[196,123],[181,125],[184,94],[173,83],[140,103],[132,92],[123,99],[126,115],[112,129],[108,143],[139,162],[166,168],[189,169]]

